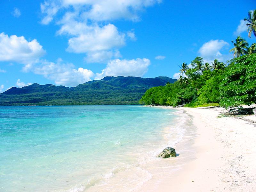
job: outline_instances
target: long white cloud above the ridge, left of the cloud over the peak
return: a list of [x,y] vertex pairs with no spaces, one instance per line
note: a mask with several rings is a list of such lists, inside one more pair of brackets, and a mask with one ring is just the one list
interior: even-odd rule
[[91,70],[78,68],[71,63],[49,62],[40,60],[37,63],[26,65],[23,70],[25,72],[33,72],[43,75],[45,78],[53,80],[57,85],[76,86],[87,81],[91,81],[94,73]]

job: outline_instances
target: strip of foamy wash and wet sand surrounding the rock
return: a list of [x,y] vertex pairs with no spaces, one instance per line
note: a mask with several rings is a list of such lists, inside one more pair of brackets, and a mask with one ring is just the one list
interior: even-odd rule
[[[165,125],[165,128],[161,130],[162,139],[161,142],[156,145],[156,148],[152,148],[151,144],[148,143],[149,148],[143,149],[145,157],[143,155],[141,157],[138,156],[138,162],[132,164],[132,167],[129,166],[124,171],[116,172],[114,177],[111,177],[109,180],[97,183],[84,191],[147,191],[148,189],[144,190],[144,187],[148,188],[148,186],[150,186],[151,189],[154,188],[153,191],[156,191],[157,188],[155,188],[155,186],[158,185],[159,176],[162,174],[158,170],[159,167],[168,169],[169,172],[175,174],[177,171],[180,171],[183,164],[194,159],[193,154],[195,153],[195,150],[188,150],[188,146],[193,144],[193,140],[197,136],[195,135],[196,127],[191,126],[192,116],[177,109],[173,109],[170,113],[170,115],[175,116],[175,118],[173,119],[172,124]],[[182,123],[180,123],[180,121]],[[177,132],[177,129],[180,131]],[[175,148],[181,149],[176,151],[177,158],[163,159],[156,157],[168,146],[175,146]],[[136,150],[133,151],[133,153],[137,154]],[[179,156],[179,153],[182,155]],[[170,160],[172,160],[171,164]],[[135,178],[137,179],[134,180]],[[151,184],[154,186],[151,186]]]

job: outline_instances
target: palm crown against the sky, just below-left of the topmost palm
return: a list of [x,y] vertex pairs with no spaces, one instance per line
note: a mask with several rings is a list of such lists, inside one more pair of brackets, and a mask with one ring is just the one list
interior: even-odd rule
[[230,49],[229,52],[234,52],[234,57],[240,57],[242,55],[245,55],[247,53],[248,49],[248,42],[245,41],[245,39],[238,36],[235,41],[231,41],[234,44],[234,48]]

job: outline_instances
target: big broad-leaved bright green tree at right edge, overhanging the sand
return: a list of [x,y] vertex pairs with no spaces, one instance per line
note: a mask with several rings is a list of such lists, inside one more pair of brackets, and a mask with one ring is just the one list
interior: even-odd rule
[[256,53],[232,60],[224,76],[220,84],[220,106],[256,102]]

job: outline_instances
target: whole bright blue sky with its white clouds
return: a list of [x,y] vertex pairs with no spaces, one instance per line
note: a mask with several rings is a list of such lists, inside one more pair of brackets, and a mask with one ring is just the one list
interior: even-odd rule
[[255,0],[1,0],[0,92],[29,84],[76,86],[105,76],[168,76],[197,56],[233,58],[249,44]]

